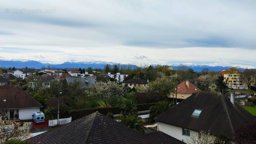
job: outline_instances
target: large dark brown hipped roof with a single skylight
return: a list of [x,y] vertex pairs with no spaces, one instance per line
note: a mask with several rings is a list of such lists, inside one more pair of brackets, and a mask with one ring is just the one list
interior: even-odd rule
[[[191,116],[195,109],[202,110],[199,117]],[[244,108],[221,93],[196,92],[178,105],[167,110],[156,121],[195,131],[208,131],[213,135],[226,134],[232,138],[234,130],[255,118]]]

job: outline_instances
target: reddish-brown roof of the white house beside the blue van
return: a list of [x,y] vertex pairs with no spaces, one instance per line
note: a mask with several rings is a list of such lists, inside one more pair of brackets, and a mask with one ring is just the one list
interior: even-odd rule
[[[4,102],[4,99],[6,100]],[[0,108],[41,108],[39,102],[33,99],[17,85],[0,85]]]

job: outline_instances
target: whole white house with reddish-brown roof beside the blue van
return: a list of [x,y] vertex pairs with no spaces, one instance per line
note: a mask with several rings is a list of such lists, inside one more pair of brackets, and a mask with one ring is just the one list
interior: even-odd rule
[[0,109],[8,119],[32,119],[43,106],[17,85],[0,85]]

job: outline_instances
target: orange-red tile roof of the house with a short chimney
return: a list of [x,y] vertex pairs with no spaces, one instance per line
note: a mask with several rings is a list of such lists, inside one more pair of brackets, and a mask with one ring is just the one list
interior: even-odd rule
[[188,86],[186,85],[186,81],[181,82],[177,85],[177,93],[195,93],[201,91],[198,87],[190,82],[188,82]]

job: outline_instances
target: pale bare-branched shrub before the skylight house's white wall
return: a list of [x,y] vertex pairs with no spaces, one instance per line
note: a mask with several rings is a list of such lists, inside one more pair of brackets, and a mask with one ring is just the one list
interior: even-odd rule
[[210,131],[200,131],[199,133],[190,133],[190,138],[188,138],[187,141],[188,143],[210,144],[214,142],[214,138],[210,134]]

